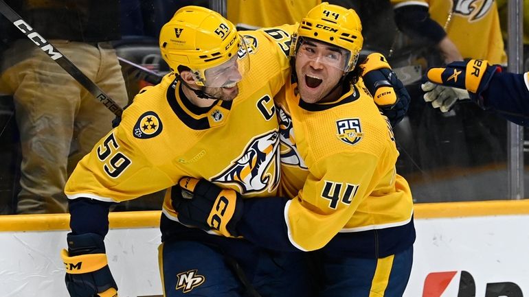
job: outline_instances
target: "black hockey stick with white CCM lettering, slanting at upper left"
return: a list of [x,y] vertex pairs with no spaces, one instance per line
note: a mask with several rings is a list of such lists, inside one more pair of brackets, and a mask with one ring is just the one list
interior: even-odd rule
[[82,73],[80,69],[74,65],[68,58],[58,51],[53,45],[48,43],[41,34],[38,34],[30,25],[28,25],[19,14],[17,14],[5,1],[0,0],[0,13],[5,16],[15,27],[17,27],[27,38],[33,41],[33,43],[42,49],[49,58],[52,58],[60,67],[71,75],[76,81],[78,81],[83,87],[87,89],[92,95],[95,96],[106,108],[109,108],[111,112],[117,117],[121,117],[123,108],[117,105],[109,95],[106,95],[97,84],[92,82],[85,73]]

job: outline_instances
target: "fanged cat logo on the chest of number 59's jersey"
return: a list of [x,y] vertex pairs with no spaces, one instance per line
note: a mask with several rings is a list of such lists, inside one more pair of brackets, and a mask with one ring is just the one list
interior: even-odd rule
[[242,194],[275,189],[280,176],[278,145],[277,130],[255,137],[245,152],[211,181],[236,183]]

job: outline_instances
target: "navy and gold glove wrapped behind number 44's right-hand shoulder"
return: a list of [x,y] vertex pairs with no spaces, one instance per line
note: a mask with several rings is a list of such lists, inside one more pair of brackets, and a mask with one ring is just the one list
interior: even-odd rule
[[382,54],[372,53],[359,65],[374,103],[395,126],[406,115],[411,97]]

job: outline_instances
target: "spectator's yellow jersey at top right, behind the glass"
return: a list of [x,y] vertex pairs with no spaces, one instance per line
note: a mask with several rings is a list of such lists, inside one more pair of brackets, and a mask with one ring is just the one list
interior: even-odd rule
[[496,1],[391,0],[391,2],[394,8],[404,5],[429,7],[431,19],[444,27],[463,58],[506,64],[507,56],[499,27]]

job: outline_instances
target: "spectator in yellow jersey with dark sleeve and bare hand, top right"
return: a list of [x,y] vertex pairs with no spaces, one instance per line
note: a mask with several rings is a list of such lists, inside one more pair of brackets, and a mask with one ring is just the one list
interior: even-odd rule
[[494,64],[506,63],[495,1],[391,2],[398,29],[412,38],[438,45],[444,62],[480,58]]

